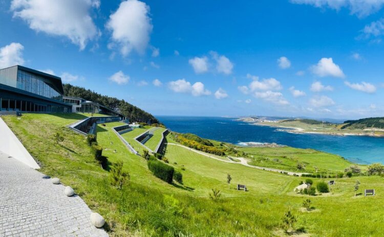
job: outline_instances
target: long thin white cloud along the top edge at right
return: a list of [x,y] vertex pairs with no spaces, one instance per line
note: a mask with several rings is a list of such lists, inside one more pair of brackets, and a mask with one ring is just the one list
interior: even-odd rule
[[317,8],[329,7],[340,10],[343,7],[349,8],[351,14],[364,17],[377,12],[384,4],[384,0],[291,0],[295,4],[313,5]]

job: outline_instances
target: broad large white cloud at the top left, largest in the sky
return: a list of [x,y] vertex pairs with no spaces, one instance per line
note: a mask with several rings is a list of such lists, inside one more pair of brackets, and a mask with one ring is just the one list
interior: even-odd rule
[[98,8],[95,0],[13,0],[13,17],[25,20],[29,28],[54,36],[65,36],[83,50],[99,30],[90,10]]

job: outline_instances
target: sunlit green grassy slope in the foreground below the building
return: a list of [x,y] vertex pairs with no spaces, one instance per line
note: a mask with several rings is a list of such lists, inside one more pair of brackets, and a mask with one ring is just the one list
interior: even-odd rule
[[[304,227],[312,236],[374,236],[384,232],[382,210],[377,208],[384,204],[381,177],[357,177],[360,190],[376,189],[377,196],[369,198],[352,197],[357,178],[336,179],[333,195],[311,197],[319,211],[303,213],[301,203],[307,197],[292,192],[301,178],[226,164],[168,146],[170,163],[176,161],[175,167],[183,164],[186,169],[182,171],[185,186],[169,185],[152,176],[145,160],[127,152],[111,131],[114,124],[107,123],[106,127],[98,127],[103,154],[112,163],[124,161],[124,169],[131,175],[130,185],[118,191],[109,185],[108,171],[94,161],[84,137],[63,127],[81,117],[26,114],[20,120],[14,116],[3,118],[43,164],[41,171],[73,186],[93,210],[106,218],[111,235],[271,236],[279,229],[289,206],[298,216],[296,227]],[[60,145],[52,141],[56,131],[66,137]],[[233,177],[232,189],[226,184],[227,173]],[[250,191],[234,190],[238,182],[249,186]],[[219,202],[206,198],[214,187],[223,192]],[[164,195],[173,195],[178,204],[165,201]]]

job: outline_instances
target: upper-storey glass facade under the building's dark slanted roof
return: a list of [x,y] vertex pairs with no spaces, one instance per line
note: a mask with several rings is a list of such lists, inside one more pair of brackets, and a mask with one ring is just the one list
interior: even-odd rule
[[[12,86],[13,83],[9,85]],[[16,88],[51,99],[61,98],[60,93],[55,91],[43,77],[23,70],[17,71]]]

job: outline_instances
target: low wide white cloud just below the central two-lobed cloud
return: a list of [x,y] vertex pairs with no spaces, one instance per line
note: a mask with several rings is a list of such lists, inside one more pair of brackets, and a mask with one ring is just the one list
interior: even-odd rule
[[168,88],[176,93],[190,93],[193,96],[202,96],[210,95],[211,92],[206,90],[204,84],[201,82],[196,82],[191,85],[189,81],[185,79],[179,79],[176,81],[170,81],[168,83]]

